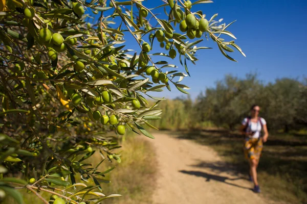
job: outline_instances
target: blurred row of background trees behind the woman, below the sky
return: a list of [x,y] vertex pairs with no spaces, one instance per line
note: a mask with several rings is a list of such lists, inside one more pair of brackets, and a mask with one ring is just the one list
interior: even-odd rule
[[[177,122],[172,122],[174,129],[213,123],[234,130],[249,115],[253,104],[261,107],[260,116],[267,120],[270,130],[299,130],[307,125],[307,79],[283,78],[264,84],[256,74],[247,74],[244,79],[226,75],[216,82],[215,87],[200,93],[195,101],[189,97],[179,97],[161,103],[166,112],[157,125],[164,128],[167,122],[164,120],[176,117],[170,114],[176,113]],[[172,107],[184,108],[175,110]],[[183,113],[183,116],[179,113]]]

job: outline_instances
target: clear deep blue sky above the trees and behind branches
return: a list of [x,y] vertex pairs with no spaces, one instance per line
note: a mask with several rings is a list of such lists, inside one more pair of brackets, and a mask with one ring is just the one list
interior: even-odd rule
[[[192,0],[195,2],[195,0]],[[191,78],[183,80],[189,86],[192,98],[207,87],[213,87],[225,74],[245,77],[247,73],[257,73],[264,83],[274,82],[277,78],[307,77],[307,1],[306,0],[215,0],[211,4],[199,4],[192,12],[202,10],[207,18],[218,13],[216,19],[233,23],[228,30],[243,49],[246,58],[238,52],[231,56],[238,63],[225,58],[212,40],[204,40],[201,46],[213,49],[199,50],[200,59],[196,65],[189,63]],[[148,0],[143,4],[149,8],[160,5],[160,0]],[[157,10],[155,13],[163,13]],[[163,14],[161,15],[163,16]],[[146,38],[148,39],[148,38]],[[127,47],[136,45],[134,39],[127,39]],[[199,46],[200,46],[199,45]],[[158,42],[154,46],[159,47]],[[137,47],[135,46],[135,49]],[[163,51],[163,49],[157,48]],[[164,50],[166,52],[166,50]],[[175,62],[175,61],[174,61]],[[184,68],[177,59],[176,64],[182,72]],[[174,98],[184,95],[171,86],[172,92],[152,92],[155,96]]]

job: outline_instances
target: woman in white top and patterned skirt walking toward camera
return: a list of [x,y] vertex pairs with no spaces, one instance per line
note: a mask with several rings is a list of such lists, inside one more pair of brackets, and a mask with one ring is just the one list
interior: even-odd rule
[[[250,181],[254,182],[254,192],[260,193],[260,187],[257,180],[257,167],[261,156],[263,142],[269,137],[267,122],[259,117],[260,107],[253,105],[251,107],[250,117],[244,118],[240,131],[245,136],[244,154],[249,160]],[[261,135],[264,132],[263,136]]]

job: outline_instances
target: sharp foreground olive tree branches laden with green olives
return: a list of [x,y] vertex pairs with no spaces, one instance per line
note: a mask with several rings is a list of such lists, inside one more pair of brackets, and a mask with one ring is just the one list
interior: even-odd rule
[[[187,61],[195,63],[196,51],[209,48],[199,46],[205,37],[230,60],[231,47],[244,55],[222,38],[235,39],[226,30],[231,23],[196,10],[203,3],[211,1],[169,0],[147,8],[141,0],[1,0],[0,199],[22,203],[15,188],[43,203],[41,192],[54,203],[120,196],[103,194],[104,174],[113,168],[102,172],[99,165],[121,161],[114,150],[126,129],[153,138],[145,126],[155,129],[149,122],[160,118],[156,106],[163,98],[150,92],[174,86],[188,93],[181,84]],[[166,19],[155,14],[159,8]],[[174,32],[178,23],[182,32]],[[126,47],[126,35],[139,47]],[[155,53],[157,41],[166,44],[164,53]],[[148,97],[156,103],[149,106]],[[95,151],[101,162],[92,166],[86,159]]]

